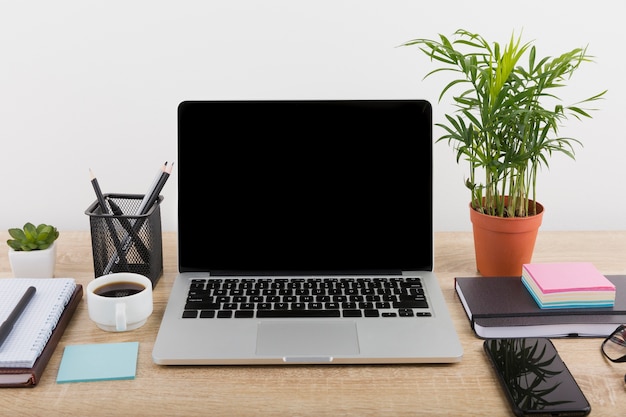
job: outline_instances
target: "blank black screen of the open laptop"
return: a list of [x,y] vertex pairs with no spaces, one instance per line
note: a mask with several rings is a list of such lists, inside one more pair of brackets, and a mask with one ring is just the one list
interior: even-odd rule
[[424,100],[186,101],[180,272],[432,270]]

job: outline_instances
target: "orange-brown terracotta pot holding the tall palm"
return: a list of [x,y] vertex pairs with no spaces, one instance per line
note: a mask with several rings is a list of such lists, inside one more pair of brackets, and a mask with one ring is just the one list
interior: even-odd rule
[[474,231],[476,268],[483,276],[521,276],[522,264],[530,263],[543,219],[543,206],[529,217],[488,216],[470,204]]

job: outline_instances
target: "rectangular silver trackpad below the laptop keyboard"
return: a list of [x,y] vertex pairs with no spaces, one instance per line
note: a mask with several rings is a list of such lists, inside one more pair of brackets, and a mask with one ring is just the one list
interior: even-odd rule
[[[351,321],[272,321],[259,323],[257,355],[285,360],[359,353],[356,323]],[[304,358],[303,358],[304,359]]]

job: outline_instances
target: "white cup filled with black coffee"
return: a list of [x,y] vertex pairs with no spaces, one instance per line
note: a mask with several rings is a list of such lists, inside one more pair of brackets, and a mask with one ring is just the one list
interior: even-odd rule
[[98,277],[87,284],[87,309],[102,330],[137,329],[152,314],[152,281],[131,272]]

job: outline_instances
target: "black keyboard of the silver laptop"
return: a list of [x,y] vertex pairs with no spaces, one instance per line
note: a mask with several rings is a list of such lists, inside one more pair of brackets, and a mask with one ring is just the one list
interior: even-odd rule
[[206,278],[183,318],[429,317],[420,278]]

